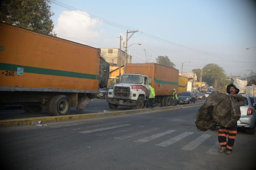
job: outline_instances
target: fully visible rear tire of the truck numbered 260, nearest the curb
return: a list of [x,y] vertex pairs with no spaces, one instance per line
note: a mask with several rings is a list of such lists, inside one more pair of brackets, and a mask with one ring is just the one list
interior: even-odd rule
[[53,116],[68,115],[70,106],[70,99],[66,95],[56,95],[47,104],[47,111]]

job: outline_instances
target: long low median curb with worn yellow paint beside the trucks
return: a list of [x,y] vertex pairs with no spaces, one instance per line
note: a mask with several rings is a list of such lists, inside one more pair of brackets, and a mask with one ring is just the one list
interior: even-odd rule
[[[190,105],[179,105],[182,108],[191,107],[201,105],[203,103],[196,103]],[[25,125],[31,124],[32,122],[42,121],[45,122],[58,122],[58,121],[66,121],[66,120],[78,120],[78,119],[90,119],[96,117],[108,117],[108,116],[117,116],[117,115],[125,115],[132,113],[146,113],[152,111],[164,111],[170,109],[178,109],[177,106],[166,106],[166,107],[155,107],[155,108],[147,108],[147,109],[136,109],[136,110],[126,110],[126,111],[114,111],[114,112],[100,112],[100,113],[85,113],[79,115],[65,115],[65,116],[47,116],[47,117],[32,117],[32,118],[24,118],[24,119],[8,119],[8,120],[0,120],[0,126],[11,126],[11,125]]]

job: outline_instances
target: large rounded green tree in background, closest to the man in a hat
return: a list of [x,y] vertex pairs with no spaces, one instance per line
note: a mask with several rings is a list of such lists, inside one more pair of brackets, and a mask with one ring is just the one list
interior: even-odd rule
[[202,82],[206,82],[213,87],[220,87],[225,84],[227,76],[225,75],[223,68],[217,64],[207,64],[203,67],[203,70],[205,69],[210,71],[204,71],[205,73],[203,72]]

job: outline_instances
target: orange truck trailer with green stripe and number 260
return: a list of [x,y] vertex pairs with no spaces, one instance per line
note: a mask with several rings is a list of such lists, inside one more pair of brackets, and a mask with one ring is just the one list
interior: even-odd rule
[[0,105],[68,115],[107,87],[100,49],[0,23]]

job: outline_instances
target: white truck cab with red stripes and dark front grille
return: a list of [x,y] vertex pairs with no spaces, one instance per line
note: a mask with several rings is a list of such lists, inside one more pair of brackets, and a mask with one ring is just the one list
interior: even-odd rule
[[146,75],[122,75],[121,82],[109,90],[107,98],[109,107],[116,109],[118,105],[122,105],[131,106],[132,109],[142,109],[149,95],[151,81],[151,78]]

